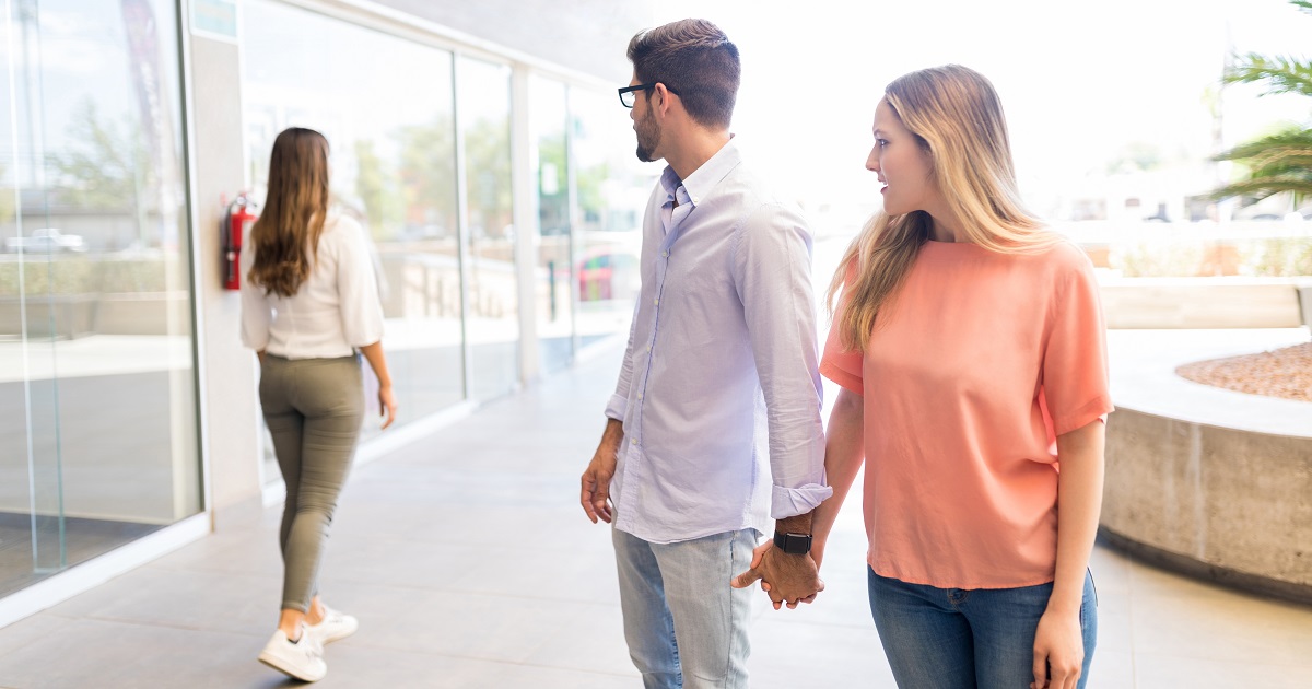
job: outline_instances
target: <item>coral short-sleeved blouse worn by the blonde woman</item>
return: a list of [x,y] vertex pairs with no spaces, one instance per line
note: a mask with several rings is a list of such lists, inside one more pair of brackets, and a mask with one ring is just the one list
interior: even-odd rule
[[1056,436],[1113,411],[1098,285],[1078,247],[1017,256],[928,241],[867,352],[845,352],[830,329],[820,373],[865,398],[876,574],[963,589],[1052,580]]

